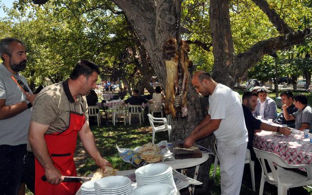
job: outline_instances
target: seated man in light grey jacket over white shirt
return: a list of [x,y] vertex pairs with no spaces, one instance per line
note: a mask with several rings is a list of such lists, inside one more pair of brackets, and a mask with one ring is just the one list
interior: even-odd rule
[[268,97],[267,89],[260,88],[257,90],[258,101],[255,107],[254,117],[262,116],[262,119],[276,119],[277,106],[274,100]]

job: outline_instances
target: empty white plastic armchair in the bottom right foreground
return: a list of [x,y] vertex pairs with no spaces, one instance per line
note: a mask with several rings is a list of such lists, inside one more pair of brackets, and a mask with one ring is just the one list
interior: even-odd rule
[[[287,195],[289,188],[306,186],[312,184],[312,165],[311,164],[295,164],[289,165],[282,160],[281,157],[272,153],[254,148],[254,152],[260,161],[262,174],[259,195],[263,194],[264,182],[277,186],[278,195]],[[267,160],[272,172],[268,173],[265,160]],[[308,176],[301,175],[297,172],[286,170],[284,168],[305,168]]]

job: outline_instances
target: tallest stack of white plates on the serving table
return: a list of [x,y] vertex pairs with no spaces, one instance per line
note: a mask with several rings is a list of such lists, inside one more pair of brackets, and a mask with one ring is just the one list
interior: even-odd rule
[[165,183],[176,188],[172,167],[167,164],[155,163],[142,166],[136,170],[137,186]]

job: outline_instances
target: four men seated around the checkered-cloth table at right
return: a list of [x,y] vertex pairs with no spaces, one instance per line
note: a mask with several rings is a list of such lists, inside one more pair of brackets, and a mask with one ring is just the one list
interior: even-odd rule
[[[308,98],[304,94],[293,95],[290,90],[283,91],[280,94],[283,106],[279,114],[277,114],[276,103],[267,95],[266,88],[259,88],[256,92],[245,92],[242,98],[249,139],[247,148],[251,151],[252,160],[255,160],[254,133],[266,130],[290,135],[291,129],[289,127],[297,130],[312,130],[312,107],[308,105]],[[273,123],[283,126],[263,123],[257,119],[257,116],[262,116],[264,120],[272,119]]]

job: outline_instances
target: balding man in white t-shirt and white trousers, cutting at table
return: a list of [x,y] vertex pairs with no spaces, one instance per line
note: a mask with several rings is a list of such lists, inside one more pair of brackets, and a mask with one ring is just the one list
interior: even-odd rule
[[186,138],[184,147],[214,133],[218,142],[221,194],[239,195],[244,171],[248,132],[237,94],[216,83],[207,72],[197,71],[192,78],[197,93],[209,96],[208,115]]

